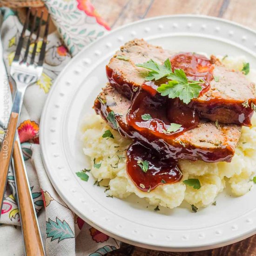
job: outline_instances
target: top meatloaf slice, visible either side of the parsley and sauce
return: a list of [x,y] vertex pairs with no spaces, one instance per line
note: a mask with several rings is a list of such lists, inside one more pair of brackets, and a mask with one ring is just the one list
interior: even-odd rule
[[[143,39],[132,40],[120,48],[106,66],[110,84],[121,94],[131,99],[133,91],[144,82],[148,70],[135,64],[153,59],[162,63],[172,52],[162,47],[148,44]],[[122,56],[122,57],[120,57]],[[124,60],[125,59],[125,60]],[[200,97],[193,99],[189,106],[196,108],[202,118],[220,123],[236,123],[250,126],[253,115],[251,103],[256,104],[255,85],[246,79],[242,72],[235,72],[214,61],[214,80],[210,89]],[[248,100],[249,107],[243,105]]]

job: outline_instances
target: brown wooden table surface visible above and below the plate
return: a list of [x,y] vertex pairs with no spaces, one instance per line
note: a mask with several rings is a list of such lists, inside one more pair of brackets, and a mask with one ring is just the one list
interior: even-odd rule
[[[112,28],[144,18],[168,14],[204,14],[236,21],[256,29],[256,0],[91,0]],[[218,249],[161,252],[121,244],[108,256],[256,256],[256,235]]]

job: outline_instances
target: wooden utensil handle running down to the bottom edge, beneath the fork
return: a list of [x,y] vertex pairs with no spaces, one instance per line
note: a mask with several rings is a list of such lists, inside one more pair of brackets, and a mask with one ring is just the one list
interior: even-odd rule
[[26,255],[44,256],[40,231],[34,214],[34,203],[31,199],[30,188],[23,166],[22,156],[20,155],[18,141],[14,142],[13,162]]

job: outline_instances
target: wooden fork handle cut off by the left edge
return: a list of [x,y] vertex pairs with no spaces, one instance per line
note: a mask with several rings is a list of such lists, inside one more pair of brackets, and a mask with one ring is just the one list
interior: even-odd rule
[[0,150],[0,209],[2,208],[3,204],[5,187],[7,182],[7,173],[13,154],[13,142],[15,138],[18,119],[19,114],[12,112]]

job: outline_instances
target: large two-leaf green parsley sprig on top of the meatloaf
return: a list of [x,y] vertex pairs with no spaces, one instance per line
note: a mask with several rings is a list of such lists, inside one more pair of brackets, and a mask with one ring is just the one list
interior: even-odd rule
[[146,76],[145,80],[159,80],[162,77],[167,77],[171,81],[168,81],[168,84],[161,84],[157,88],[157,91],[161,93],[162,96],[167,96],[171,99],[180,98],[184,103],[188,104],[191,99],[197,98],[199,93],[202,90],[200,84],[205,81],[194,81],[188,80],[183,69],[175,69],[172,72],[171,62],[169,59],[164,61],[163,65],[159,65],[153,60],[144,62],[143,64],[137,64],[137,67],[144,67],[149,69],[149,73]]

